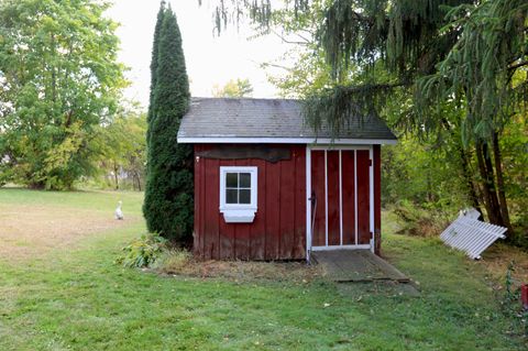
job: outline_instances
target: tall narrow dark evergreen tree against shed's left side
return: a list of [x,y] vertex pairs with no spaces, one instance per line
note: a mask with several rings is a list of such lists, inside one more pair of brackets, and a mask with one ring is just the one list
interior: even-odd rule
[[193,228],[193,149],[176,136],[189,105],[189,81],[176,14],[163,3],[162,11],[143,213],[150,231],[184,242]]

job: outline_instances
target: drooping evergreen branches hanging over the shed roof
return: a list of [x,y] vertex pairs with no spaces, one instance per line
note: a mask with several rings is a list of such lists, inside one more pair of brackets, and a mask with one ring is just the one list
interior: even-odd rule
[[[464,98],[479,111],[493,114],[498,106],[509,101],[506,94],[508,89],[504,89],[508,85],[501,85],[493,77],[502,76],[508,80],[508,77],[527,64],[526,8],[527,4],[521,0],[287,0],[283,7],[277,8],[272,8],[270,1],[232,0],[220,1],[217,7],[217,13],[222,14],[217,29],[220,31],[230,21],[239,21],[245,13],[264,30],[285,19],[285,31],[295,26],[292,25],[293,22],[299,30],[309,26],[306,15],[311,13],[316,18],[316,22],[309,23],[316,25],[312,40],[317,44],[316,48],[322,50],[331,67],[334,80],[332,86],[350,97],[343,99],[343,103],[359,106],[369,100],[363,96],[367,90],[351,89],[350,81],[345,84],[349,88],[339,88],[343,85],[343,77],[349,74],[350,66],[354,65],[359,67],[362,78],[352,86],[381,87],[369,89],[370,95],[378,91],[383,95],[387,86],[406,87],[416,91],[417,107],[430,106],[438,101],[433,101],[435,97],[444,98],[454,90],[460,90],[460,84],[464,84],[479,91],[485,88],[486,96],[470,94]],[[288,20],[285,17],[287,13],[293,13],[296,21]],[[447,67],[457,66],[458,70],[447,75]],[[380,75],[381,68],[386,72],[385,75]],[[482,72],[482,75],[476,75],[477,72]],[[425,90],[426,86],[420,79],[431,75],[442,77],[442,81],[436,90]],[[449,77],[458,77],[458,80]],[[463,81],[463,77],[473,80]],[[494,86],[497,89],[494,90]],[[430,85],[427,87],[430,88]],[[443,90],[439,91],[440,88]],[[424,94],[427,91],[430,94]],[[328,91],[320,98],[323,99],[327,94]],[[369,110],[381,111],[384,105],[375,102],[383,100],[373,99]],[[491,109],[486,106],[488,103],[493,105]],[[323,105],[322,101],[320,105]],[[352,109],[354,107],[343,107],[343,111]],[[309,110],[317,112],[312,108]],[[418,109],[416,112],[421,118],[429,118],[430,114],[430,110],[422,113],[426,111]],[[317,118],[316,114],[308,117],[312,121]],[[485,132],[484,124],[469,130],[471,133],[481,131]]]

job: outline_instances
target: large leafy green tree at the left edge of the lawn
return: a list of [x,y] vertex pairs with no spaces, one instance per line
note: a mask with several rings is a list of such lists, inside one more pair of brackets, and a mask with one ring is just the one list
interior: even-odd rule
[[70,188],[94,174],[90,141],[125,86],[108,3],[0,3],[0,173],[35,188]]

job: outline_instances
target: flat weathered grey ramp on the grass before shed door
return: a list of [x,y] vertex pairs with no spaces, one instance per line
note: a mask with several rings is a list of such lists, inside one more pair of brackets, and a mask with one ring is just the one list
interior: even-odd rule
[[334,282],[410,282],[396,267],[369,250],[317,251],[311,253],[311,259]]

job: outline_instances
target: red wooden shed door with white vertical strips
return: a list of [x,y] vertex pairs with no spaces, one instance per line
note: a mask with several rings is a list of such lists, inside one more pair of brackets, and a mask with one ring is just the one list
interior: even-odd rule
[[371,245],[369,150],[311,151],[311,245]]

